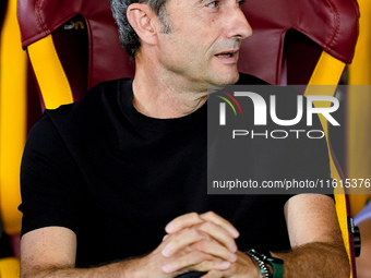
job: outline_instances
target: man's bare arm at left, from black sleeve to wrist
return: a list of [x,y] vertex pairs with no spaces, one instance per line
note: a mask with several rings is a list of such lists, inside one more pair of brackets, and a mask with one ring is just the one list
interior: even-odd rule
[[[76,237],[61,227],[31,231],[21,241],[21,277],[124,277],[137,270],[139,261],[127,261],[97,268],[75,268]],[[134,277],[134,276],[132,276]]]

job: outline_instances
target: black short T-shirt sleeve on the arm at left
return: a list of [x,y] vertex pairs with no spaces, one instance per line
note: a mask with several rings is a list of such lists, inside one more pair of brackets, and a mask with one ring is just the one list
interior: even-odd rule
[[50,226],[76,229],[81,207],[79,168],[47,114],[32,129],[21,166],[22,235]]

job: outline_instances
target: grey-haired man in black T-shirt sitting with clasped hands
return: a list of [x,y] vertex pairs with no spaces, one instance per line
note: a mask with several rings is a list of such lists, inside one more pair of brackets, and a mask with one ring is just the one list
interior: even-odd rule
[[252,34],[241,2],[111,5],[135,76],[47,111],[29,134],[21,276],[270,277],[272,265],[246,253],[260,246],[292,247],[273,253],[284,277],[349,277],[328,196],[206,194],[204,104],[208,85],[239,78]]

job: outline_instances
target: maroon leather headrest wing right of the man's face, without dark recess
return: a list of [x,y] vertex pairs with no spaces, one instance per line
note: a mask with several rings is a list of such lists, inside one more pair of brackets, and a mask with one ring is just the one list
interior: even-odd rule
[[[354,58],[359,33],[356,0],[249,0],[242,10],[253,29],[241,47],[242,72],[276,83],[273,72],[282,67],[289,29],[302,33],[345,63]],[[256,67],[265,72],[256,73]]]

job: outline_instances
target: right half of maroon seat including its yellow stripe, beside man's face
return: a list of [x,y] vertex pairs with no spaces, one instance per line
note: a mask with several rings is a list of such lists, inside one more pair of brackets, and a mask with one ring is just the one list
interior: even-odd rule
[[[335,94],[358,39],[359,8],[355,0],[251,0],[243,9],[254,34],[242,44],[240,71],[271,84],[332,85],[323,94]],[[306,95],[318,94],[312,88],[308,86]],[[330,144],[327,123],[323,118],[321,122],[332,178],[344,180]],[[343,189],[335,192],[335,201],[351,276],[356,277],[349,202]]]

